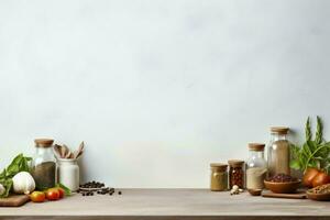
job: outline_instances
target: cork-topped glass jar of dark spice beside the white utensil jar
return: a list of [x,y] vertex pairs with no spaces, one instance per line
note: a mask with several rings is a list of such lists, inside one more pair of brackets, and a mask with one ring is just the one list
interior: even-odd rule
[[36,139],[35,155],[32,161],[32,176],[38,190],[44,190],[55,186],[56,163],[53,152],[53,140]]

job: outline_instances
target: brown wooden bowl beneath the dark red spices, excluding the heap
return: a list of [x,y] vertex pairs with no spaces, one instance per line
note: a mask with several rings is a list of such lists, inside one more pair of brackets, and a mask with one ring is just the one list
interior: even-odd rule
[[265,187],[275,194],[293,194],[299,188],[301,180],[274,183],[264,180]]

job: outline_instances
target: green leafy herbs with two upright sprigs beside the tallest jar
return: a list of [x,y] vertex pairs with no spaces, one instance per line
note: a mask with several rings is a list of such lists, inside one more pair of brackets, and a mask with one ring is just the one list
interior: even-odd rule
[[305,125],[306,142],[302,146],[292,145],[290,167],[305,172],[307,168],[318,168],[330,173],[330,142],[323,139],[323,124],[320,117],[317,117],[317,131],[312,140],[310,120]]

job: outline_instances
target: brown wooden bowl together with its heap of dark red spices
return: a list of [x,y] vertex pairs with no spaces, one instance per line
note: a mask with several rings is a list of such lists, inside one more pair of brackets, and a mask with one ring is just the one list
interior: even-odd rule
[[264,180],[265,187],[275,194],[294,194],[301,180],[286,174],[277,174]]

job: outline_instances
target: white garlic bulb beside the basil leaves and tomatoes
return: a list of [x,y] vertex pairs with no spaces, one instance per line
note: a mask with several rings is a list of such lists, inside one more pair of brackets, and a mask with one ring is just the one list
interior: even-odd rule
[[20,172],[12,178],[15,194],[30,194],[35,188],[35,182],[30,173]]

